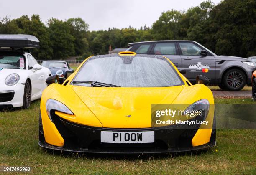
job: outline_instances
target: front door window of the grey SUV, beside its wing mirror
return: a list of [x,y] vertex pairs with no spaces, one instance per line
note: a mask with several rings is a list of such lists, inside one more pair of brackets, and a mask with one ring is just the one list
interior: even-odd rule
[[196,46],[193,43],[179,43],[182,55],[195,55],[200,56],[200,47]]

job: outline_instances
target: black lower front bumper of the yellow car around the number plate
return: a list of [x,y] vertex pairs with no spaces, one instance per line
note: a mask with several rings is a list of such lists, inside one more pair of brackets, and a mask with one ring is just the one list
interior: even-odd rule
[[[55,115],[53,122],[64,139],[63,147],[56,147],[45,142],[44,137],[39,137],[39,146],[45,149],[62,150],[69,152],[90,152],[90,153],[117,153],[117,154],[138,154],[138,153],[168,153],[186,152],[201,149],[208,149],[215,146],[215,129],[212,129],[210,142],[204,145],[193,147],[191,140],[197,129],[174,129],[173,127],[154,127],[142,129],[115,129],[102,127],[89,127],[69,122]],[[41,128],[41,133],[43,129]],[[100,142],[101,131],[154,131],[154,143],[102,143]],[[40,129],[39,129],[40,135]]]

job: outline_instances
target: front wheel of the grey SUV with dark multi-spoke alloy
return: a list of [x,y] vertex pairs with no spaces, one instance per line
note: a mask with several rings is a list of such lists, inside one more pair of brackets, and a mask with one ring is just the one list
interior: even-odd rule
[[230,69],[223,76],[223,85],[227,90],[240,91],[246,85],[246,75],[239,69]]

